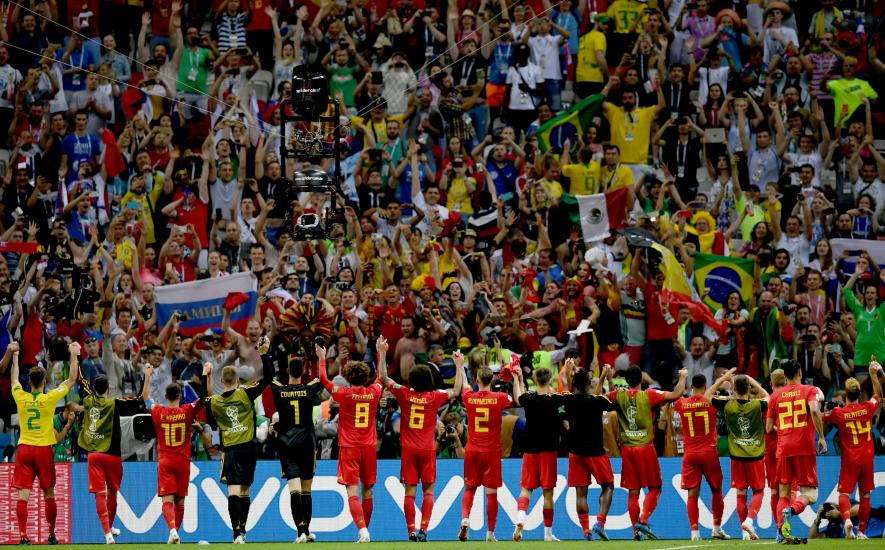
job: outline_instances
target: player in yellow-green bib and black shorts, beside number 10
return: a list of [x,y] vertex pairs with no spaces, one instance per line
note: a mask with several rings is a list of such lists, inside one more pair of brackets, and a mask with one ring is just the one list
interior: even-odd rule
[[[209,397],[206,403],[206,420],[221,433],[221,482],[227,485],[227,513],[233,529],[234,544],[246,543],[246,522],[252,504],[249,489],[255,481],[258,452],[255,449],[255,400],[273,379],[273,362],[266,357],[270,340],[258,340],[258,353],[264,373],[257,384],[240,388],[240,376],[236,367],[221,369],[224,391],[212,395],[212,384],[206,387]],[[212,364],[206,363],[207,376],[212,377]]]

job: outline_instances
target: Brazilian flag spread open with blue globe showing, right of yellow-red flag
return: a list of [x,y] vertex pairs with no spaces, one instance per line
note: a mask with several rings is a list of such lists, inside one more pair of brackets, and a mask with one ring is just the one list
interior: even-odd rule
[[704,303],[715,312],[725,304],[732,291],[737,291],[747,304],[753,295],[754,266],[753,260],[746,258],[695,254],[695,285],[702,296],[705,289],[709,291]]

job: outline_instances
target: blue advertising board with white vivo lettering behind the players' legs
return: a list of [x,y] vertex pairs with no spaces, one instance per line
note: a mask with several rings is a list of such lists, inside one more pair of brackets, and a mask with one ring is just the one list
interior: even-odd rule
[[[725,512],[723,524],[733,536],[740,537],[736,513],[736,491],[729,488],[730,461],[721,459],[725,476]],[[885,457],[876,458],[876,491],[873,503],[885,503]],[[516,499],[519,496],[519,479],[522,461],[504,460],[504,486],[498,492],[501,511],[498,516],[499,539],[509,538],[516,519]],[[16,493],[11,488],[13,464],[0,464],[0,480],[6,490],[0,491],[0,542],[16,543],[15,524]],[[559,476],[554,499],[556,516],[554,532],[562,539],[581,537],[578,517],[575,514],[575,493],[567,486],[568,461],[559,460]],[[95,512],[95,501],[88,492],[86,464],[58,464],[56,500],[59,507],[58,536],[62,541],[74,543],[102,543],[104,537]],[[226,487],[218,480],[219,462],[191,463],[190,493],[187,497],[187,515],[182,529],[184,542],[229,542],[230,521],[227,514]],[[612,460],[615,472],[615,494],[606,530],[612,538],[627,539],[632,536],[627,515],[627,492],[617,488],[620,481],[621,461]],[[311,531],[321,541],[352,541],[356,528],[350,519],[344,487],[336,481],[337,463],[320,461],[313,484],[313,521]],[[658,509],[651,519],[651,526],[660,538],[689,538],[685,503],[687,492],[679,489],[681,460],[661,459],[664,487]],[[162,518],[160,499],[156,496],[157,464],[155,462],[130,462],[123,468],[123,485],[117,509],[118,527],[122,534],[120,542],[165,542],[168,531]],[[437,463],[436,506],[430,521],[430,540],[451,540],[457,532],[461,519],[461,493],[464,487],[463,465],[460,460],[440,460]],[[819,457],[820,502],[836,502],[836,484],[839,478],[839,458]],[[249,514],[248,538],[250,542],[287,542],[297,535],[289,509],[289,494],[285,480],[280,477],[279,463],[262,461],[255,472],[252,486],[252,508]],[[42,502],[36,496],[37,487],[30,503],[31,533],[39,533],[37,540],[45,541],[46,526],[43,520]],[[591,522],[597,509],[599,487],[592,487],[589,495]],[[421,518],[420,493],[418,497],[418,521]],[[403,487],[399,483],[399,461],[378,461],[378,482],[375,486],[375,511],[370,531],[372,540],[403,540],[406,538],[402,513]],[[774,522],[768,504],[768,492],[757,518],[759,534],[773,538]],[[712,527],[709,508],[710,493],[704,486],[701,494],[701,529],[706,537]],[[816,509],[816,506],[814,507]],[[39,510],[39,511],[38,511]],[[525,524],[526,539],[543,536],[542,505],[540,492],[536,491],[529,506]],[[794,533],[803,536],[814,519],[814,510],[805,510],[794,523]],[[485,531],[485,498],[478,492],[470,515],[473,538],[482,537]],[[32,536],[33,540],[33,536]],[[36,542],[36,541],[35,541]]]

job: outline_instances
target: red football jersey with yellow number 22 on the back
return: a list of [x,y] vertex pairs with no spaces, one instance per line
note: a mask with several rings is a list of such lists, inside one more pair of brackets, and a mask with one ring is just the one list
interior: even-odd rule
[[777,430],[777,457],[816,455],[811,404],[822,400],[820,390],[804,384],[787,384],[768,400]]

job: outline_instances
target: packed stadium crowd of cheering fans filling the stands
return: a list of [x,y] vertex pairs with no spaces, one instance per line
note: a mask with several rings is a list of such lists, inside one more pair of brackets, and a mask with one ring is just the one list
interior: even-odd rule
[[[224,366],[257,382],[262,335],[308,358],[305,380],[317,375],[313,337],[336,377],[351,360],[374,365],[384,336],[387,376],[427,365],[437,388],[452,386],[462,349],[471,381],[515,361],[529,386],[550,369],[559,391],[576,369],[605,382],[605,364],[639,365],[664,391],[683,368],[709,386],[737,368],[769,387],[793,360],[827,406],[852,379],[871,396],[868,367],[885,358],[882,11],[864,0],[3,3],[4,431],[19,422],[13,352],[23,379],[42,366],[51,390],[70,376],[69,342],[82,345],[80,387],[104,376],[109,395],[133,397],[150,365],[152,394],[179,382],[183,402],[206,385],[223,392]],[[301,65],[328,76],[339,159],[280,158]],[[305,238],[298,217],[326,216],[331,197],[292,193],[286,178],[333,173],[333,160],[345,234]],[[621,230],[586,241],[576,197],[620,189]],[[705,323],[663,292],[652,242],[690,278],[697,253],[752,267]],[[240,272],[259,297],[242,332],[229,310],[198,334],[184,313],[158,322],[158,287]],[[507,378],[496,385],[509,392]],[[272,402],[268,389],[261,442]],[[82,460],[78,392],[59,407],[56,460]],[[317,411],[318,457],[337,458],[337,404]],[[525,421],[505,414],[502,453],[521,456]],[[619,456],[610,419],[605,448]],[[464,456],[465,420],[451,396],[439,457]],[[400,456],[400,423],[385,391],[379,457]],[[658,454],[680,455],[672,405],[657,425]],[[126,426],[124,454],[151,457]],[[217,458],[217,432],[195,429],[195,456]],[[721,413],[719,430],[727,455]],[[881,453],[881,415],[872,430]]]

